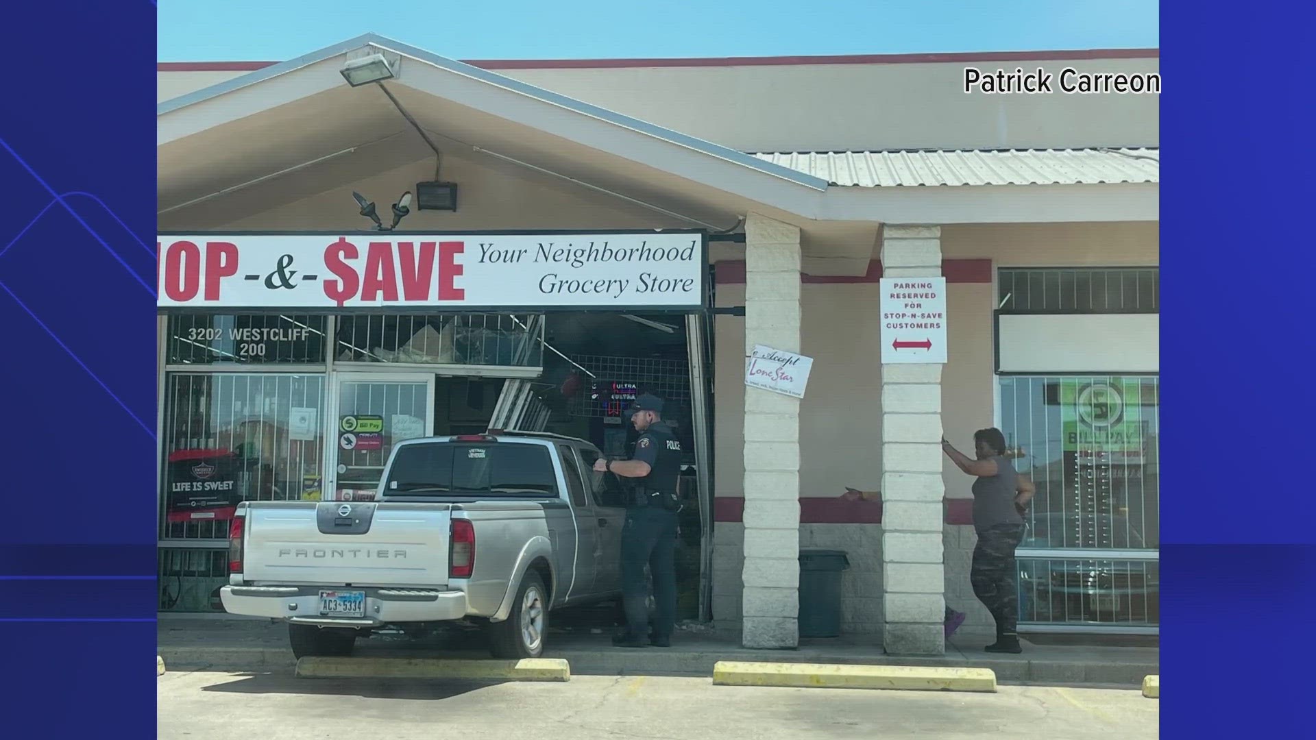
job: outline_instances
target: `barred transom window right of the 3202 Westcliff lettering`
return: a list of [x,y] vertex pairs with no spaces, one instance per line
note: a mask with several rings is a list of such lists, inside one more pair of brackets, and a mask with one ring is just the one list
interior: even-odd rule
[[334,362],[542,367],[538,315],[341,316]]

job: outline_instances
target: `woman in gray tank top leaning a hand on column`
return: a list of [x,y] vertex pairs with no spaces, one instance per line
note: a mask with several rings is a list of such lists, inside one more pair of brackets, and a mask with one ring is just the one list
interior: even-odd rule
[[[1000,429],[974,432],[976,458],[961,453],[945,438],[941,449],[965,473],[974,475],[974,531],[978,545],[969,570],[974,595],[996,620],[996,641],[988,653],[1021,653],[1019,645],[1019,568],[1015,548],[1024,539],[1024,511],[1036,489],[1028,475],[1015,470],[1005,457],[1005,435]],[[946,636],[965,621],[965,615],[946,608]]]

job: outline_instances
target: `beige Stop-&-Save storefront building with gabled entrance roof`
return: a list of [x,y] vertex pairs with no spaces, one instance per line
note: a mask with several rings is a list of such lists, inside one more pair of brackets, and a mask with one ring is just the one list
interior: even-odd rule
[[[387,79],[349,84],[375,55]],[[162,611],[215,608],[234,500],[367,495],[391,440],[421,433],[511,423],[624,449],[617,408],[653,390],[694,450],[686,619],[792,647],[797,553],[829,548],[848,632],[937,653],[946,604],[987,629],[970,481],[938,441],[995,425],[1038,489],[1021,629],[1157,632],[1158,99],[963,92],[966,67],[1020,65],[1158,70],[1154,50],[466,65],[375,36],[161,65],[162,251],[234,244],[263,261],[259,294],[295,251],[280,240],[342,237],[378,283],[287,312],[207,305],[199,283],[163,312]],[[404,191],[397,230],[367,232],[353,194],[387,226]],[[476,298],[482,238],[563,237],[686,240],[699,265],[675,277],[697,286],[559,300],[508,278],[516,298]],[[391,269],[463,267],[450,287],[472,298],[390,302],[371,241]],[[445,241],[467,246],[424,251]],[[601,278],[646,271],[624,262]],[[882,365],[883,275],[946,278],[945,365]],[[813,359],[801,399],[746,387],[755,345]]]

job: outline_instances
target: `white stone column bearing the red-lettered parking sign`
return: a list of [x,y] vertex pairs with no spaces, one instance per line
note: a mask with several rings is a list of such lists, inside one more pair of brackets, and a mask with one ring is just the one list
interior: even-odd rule
[[[887,224],[886,278],[941,275],[941,228]],[[941,365],[882,366],[882,604],[891,654],[944,654]]]

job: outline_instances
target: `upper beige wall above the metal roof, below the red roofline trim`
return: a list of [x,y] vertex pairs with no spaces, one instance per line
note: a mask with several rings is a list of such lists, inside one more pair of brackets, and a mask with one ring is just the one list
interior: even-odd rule
[[[442,49],[433,51],[442,54]],[[1154,72],[1159,59],[974,63]],[[1157,95],[966,95],[963,62],[534,68],[508,76],[745,151],[1158,146]],[[159,99],[234,72],[158,72]],[[403,67],[405,79],[405,65]]]

